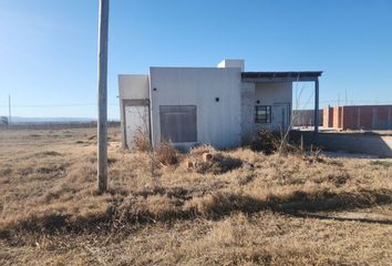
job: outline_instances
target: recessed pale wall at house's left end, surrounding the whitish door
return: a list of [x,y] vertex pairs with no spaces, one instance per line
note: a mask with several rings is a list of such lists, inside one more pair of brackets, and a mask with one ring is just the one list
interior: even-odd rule
[[118,75],[121,137],[122,137],[123,147],[131,147],[132,142],[130,137],[133,135],[132,132],[127,132],[126,130],[125,109],[126,106],[132,105],[130,102],[132,102],[133,100],[136,100],[137,102],[137,100],[145,101],[149,99],[148,91],[149,91],[148,75],[141,75],[141,74]]

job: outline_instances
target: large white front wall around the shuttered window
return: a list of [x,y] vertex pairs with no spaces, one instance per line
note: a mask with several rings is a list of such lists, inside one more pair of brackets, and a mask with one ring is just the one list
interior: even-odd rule
[[161,142],[159,105],[196,105],[197,143],[216,147],[240,144],[240,69],[151,68],[149,78],[154,145]]

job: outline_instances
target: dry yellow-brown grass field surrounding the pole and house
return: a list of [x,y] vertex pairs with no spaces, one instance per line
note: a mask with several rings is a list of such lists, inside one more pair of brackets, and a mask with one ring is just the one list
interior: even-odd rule
[[199,147],[164,165],[111,129],[97,195],[95,144],[0,132],[0,265],[392,265],[391,161]]

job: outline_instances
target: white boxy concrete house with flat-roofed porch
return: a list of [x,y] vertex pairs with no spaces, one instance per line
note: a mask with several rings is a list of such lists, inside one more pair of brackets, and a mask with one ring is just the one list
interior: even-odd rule
[[[124,147],[141,130],[153,146],[212,144],[235,147],[255,131],[286,131],[292,112],[292,83],[316,84],[322,72],[245,72],[244,60],[217,68],[149,68],[149,73],[118,75]],[[317,127],[314,129],[317,131]]]

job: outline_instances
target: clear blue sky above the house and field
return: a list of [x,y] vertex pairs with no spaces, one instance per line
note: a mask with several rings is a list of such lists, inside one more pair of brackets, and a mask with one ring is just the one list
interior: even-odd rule
[[[96,117],[96,44],[97,0],[0,0],[0,114]],[[392,0],[111,0],[109,45],[110,119],[117,74],[225,58],[324,71],[321,106],[392,103]]]

